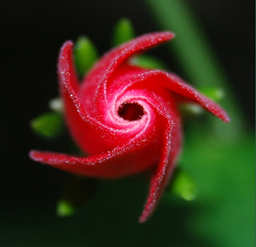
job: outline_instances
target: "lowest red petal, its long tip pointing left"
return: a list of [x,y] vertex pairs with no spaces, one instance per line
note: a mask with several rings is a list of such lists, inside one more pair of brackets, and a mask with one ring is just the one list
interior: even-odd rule
[[[137,145],[141,142],[143,138],[137,138],[125,147],[117,147],[112,151],[86,158],[48,151],[30,151],[29,156],[42,164],[87,177],[118,178],[143,172],[152,167],[154,160],[158,159],[157,147],[154,145],[150,149],[138,148]],[[154,160],[152,155],[149,155],[150,152],[155,153]]]

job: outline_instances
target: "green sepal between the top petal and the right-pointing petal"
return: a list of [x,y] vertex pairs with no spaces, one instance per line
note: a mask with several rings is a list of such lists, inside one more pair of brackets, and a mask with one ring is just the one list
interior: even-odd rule
[[134,66],[140,66],[149,70],[168,70],[167,65],[165,65],[164,62],[150,55],[132,57],[130,63]]

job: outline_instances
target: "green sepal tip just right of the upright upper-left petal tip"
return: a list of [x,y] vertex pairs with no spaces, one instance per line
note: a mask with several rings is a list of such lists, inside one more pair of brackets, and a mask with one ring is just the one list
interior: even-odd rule
[[77,73],[83,78],[98,60],[98,49],[87,36],[80,36],[75,43],[74,55]]

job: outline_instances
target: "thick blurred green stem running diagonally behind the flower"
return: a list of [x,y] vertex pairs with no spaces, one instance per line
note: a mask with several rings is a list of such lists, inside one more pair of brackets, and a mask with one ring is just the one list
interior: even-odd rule
[[[197,19],[193,16],[184,0],[145,0],[150,10],[163,29],[176,33],[176,39],[169,43],[171,53],[182,70],[199,90],[203,87],[221,87],[226,96],[221,104],[232,119],[232,125],[219,125],[225,134],[231,136],[241,132],[242,113],[236,103],[234,93],[229,87],[223,72],[206,36]],[[214,124],[215,125],[215,124]],[[228,131],[228,132],[227,132]]]

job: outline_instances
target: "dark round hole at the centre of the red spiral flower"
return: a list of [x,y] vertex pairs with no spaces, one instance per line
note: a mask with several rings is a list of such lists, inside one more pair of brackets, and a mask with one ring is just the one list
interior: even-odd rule
[[137,103],[124,103],[119,106],[119,117],[127,121],[137,121],[144,115],[143,107]]

